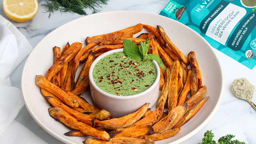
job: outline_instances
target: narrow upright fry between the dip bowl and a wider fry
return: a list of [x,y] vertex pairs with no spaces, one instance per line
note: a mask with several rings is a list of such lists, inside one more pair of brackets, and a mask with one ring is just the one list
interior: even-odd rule
[[171,70],[170,68],[167,68],[165,70],[166,76],[165,76],[165,84],[163,86],[163,89],[161,91],[161,94],[159,96],[159,99],[157,101],[157,105],[156,107],[158,108],[163,100],[164,104],[166,103],[167,99],[168,99],[168,91],[169,91],[169,81],[170,81],[170,77],[171,77]]

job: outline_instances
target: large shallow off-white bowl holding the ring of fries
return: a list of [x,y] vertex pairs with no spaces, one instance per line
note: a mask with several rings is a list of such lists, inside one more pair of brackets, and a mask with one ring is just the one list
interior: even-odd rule
[[[156,141],[156,144],[177,144],[189,139],[200,131],[214,116],[224,93],[224,74],[215,50],[198,33],[189,27],[157,14],[138,11],[112,11],[92,14],[73,20],[48,34],[33,49],[23,69],[21,89],[25,105],[35,121],[48,133],[68,144],[82,143],[86,137],[68,137],[64,133],[71,129],[49,115],[49,103],[43,98],[35,84],[36,75],[45,75],[53,64],[54,46],[63,47],[67,41],[85,43],[87,36],[96,36],[125,29],[138,23],[156,27],[160,25],[173,43],[187,55],[194,51],[202,74],[202,82],[207,86],[210,98],[203,107],[182,126],[174,137]],[[141,33],[148,32],[143,30]],[[140,34],[141,34],[140,33]],[[135,37],[138,35],[135,35]],[[81,95],[92,104],[90,92]],[[154,107],[152,108],[154,110]]]

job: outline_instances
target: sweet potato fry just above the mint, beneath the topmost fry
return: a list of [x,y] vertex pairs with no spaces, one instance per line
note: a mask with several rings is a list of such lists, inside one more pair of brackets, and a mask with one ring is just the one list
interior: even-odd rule
[[140,41],[146,41],[146,39],[136,37],[109,37],[101,41],[99,45],[122,44],[124,39],[131,40],[136,44],[140,44]]

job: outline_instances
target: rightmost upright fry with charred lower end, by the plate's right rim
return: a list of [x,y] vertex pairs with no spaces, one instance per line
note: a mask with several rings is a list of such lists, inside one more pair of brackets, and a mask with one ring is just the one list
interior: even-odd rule
[[189,61],[190,61],[190,64],[192,66],[192,68],[194,68],[196,70],[196,73],[197,73],[197,90],[199,90],[200,88],[203,87],[203,84],[202,84],[202,75],[201,75],[201,71],[199,69],[199,66],[198,66],[198,63],[197,63],[197,60],[195,58],[195,53],[194,51],[191,51],[189,54],[188,54],[188,57],[189,57]]

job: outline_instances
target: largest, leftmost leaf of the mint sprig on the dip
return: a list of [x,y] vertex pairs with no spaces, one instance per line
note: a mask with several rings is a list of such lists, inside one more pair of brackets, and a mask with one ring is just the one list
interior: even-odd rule
[[124,39],[124,52],[125,54],[134,60],[143,60],[143,55],[140,53],[139,47],[131,40]]

